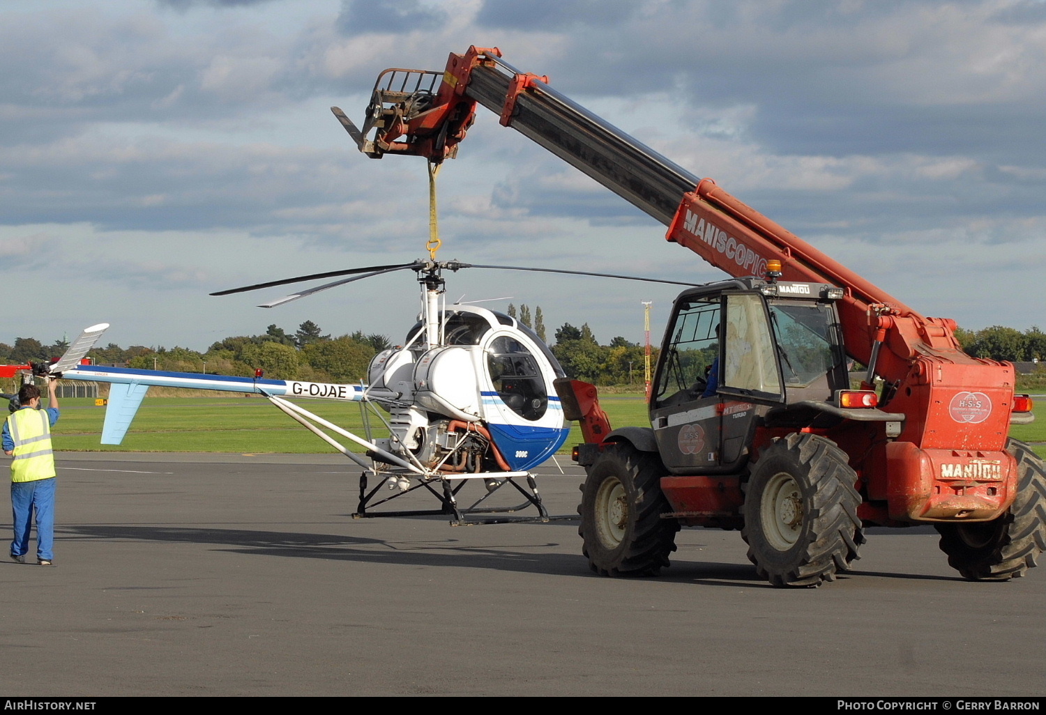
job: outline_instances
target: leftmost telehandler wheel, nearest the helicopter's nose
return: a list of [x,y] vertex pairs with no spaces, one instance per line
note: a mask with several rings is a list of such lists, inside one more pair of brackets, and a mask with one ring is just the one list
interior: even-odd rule
[[656,576],[676,550],[679,522],[661,518],[672,511],[661,492],[665,475],[657,455],[631,444],[600,453],[582,486],[577,507],[583,553],[605,576]]

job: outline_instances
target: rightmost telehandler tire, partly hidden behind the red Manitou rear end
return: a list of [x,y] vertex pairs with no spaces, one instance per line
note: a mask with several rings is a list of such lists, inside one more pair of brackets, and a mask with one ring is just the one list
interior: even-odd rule
[[1006,441],[1017,459],[1017,499],[991,522],[936,524],[948,564],[971,581],[1008,581],[1036,566],[1046,551],[1046,468],[1024,442]]

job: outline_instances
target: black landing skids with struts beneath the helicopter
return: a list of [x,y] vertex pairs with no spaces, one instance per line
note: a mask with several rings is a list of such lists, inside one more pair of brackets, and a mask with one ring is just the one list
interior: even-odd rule
[[[380,481],[377,486],[369,488],[368,474],[377,477]],[[387,472],[363,471],[360,474],[360,503],[353,518],[384,518],[402,516],[450,516],[451,526],[479,526],[481,524],[547,524],[548,522],[569,522],[579,518],[577,514],[552,515],[548,513],[544,503],[541,501],[541,493],[538,491],[538,483],[533,475],[528,472],[488,472],[483,475],[467,476],[438,476],[432,479],[418,480],[416,484],[411,484],[404,490],[394,491],[392,494],[382,497],[379,492],[382,487],[386,487],[389,478],[395,475]],[[524,487],[517,480],[526,480]],[[477,480],[483,481],[490,486],[485,492],[469,506],[461,506],[458,503],[458,493],[469,483]],[[411,480],[413,481],[413,480]],[[492,484],[492,482],[495,482]],[[439,488],[437,488],[437,486]],[[484,484],[485,486],[485,484]],[[511,486],[524,501],[515,506],[493,506],[484,504],[495,493],[503,487]],[[407,494],[425,489],[439,502],[439,509],[411,509],[404,511],[373,511],[374,507],[406,497]],[[516,514],[516,512],[533,508],[537,514]],[[476,518],[482,514],[505,514],[503,516],[487,516]]]

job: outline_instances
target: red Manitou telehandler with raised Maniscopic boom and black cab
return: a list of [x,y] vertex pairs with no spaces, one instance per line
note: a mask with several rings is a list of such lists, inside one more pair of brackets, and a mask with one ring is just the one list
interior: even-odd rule
[[[560,380],[582,423],[585,555],[609,575],[668,566],[681,526],[740,529],[761,577],[817,586],[849,568],[865,526],[932,524],[968,579],[1024,575],[1046,549],[1043,460],[1009,439],[1033,419],[1014,366],[967,355],[927,318],[575,105],[497,48],[444,72],[388,69],[362,129],[372,158],[438,163],[481,105],[668,227],[733,278],[675,301],[650,428],[611,430],[595,388]],[[867,366],[850,389],[847,363]]]

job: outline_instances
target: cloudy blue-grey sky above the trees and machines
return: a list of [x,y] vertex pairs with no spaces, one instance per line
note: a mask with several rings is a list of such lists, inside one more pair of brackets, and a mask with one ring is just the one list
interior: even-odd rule
[[[1039,0],[7,0],[0,341],[105,321],[124,346],[205,349],[306,319],[402,339],[412,274],[269,310],[288,291],[207,294],[423,257],[425,162],[367,159],[328,108],[362,120],[379,71],[470,45],[926,315],[1046,327]],[[439,191],[440,258],[725,275],[484,110]],[[641,340],[642,300],[658,332],[675,293],[481,271],[448,290],[605,343]]]

